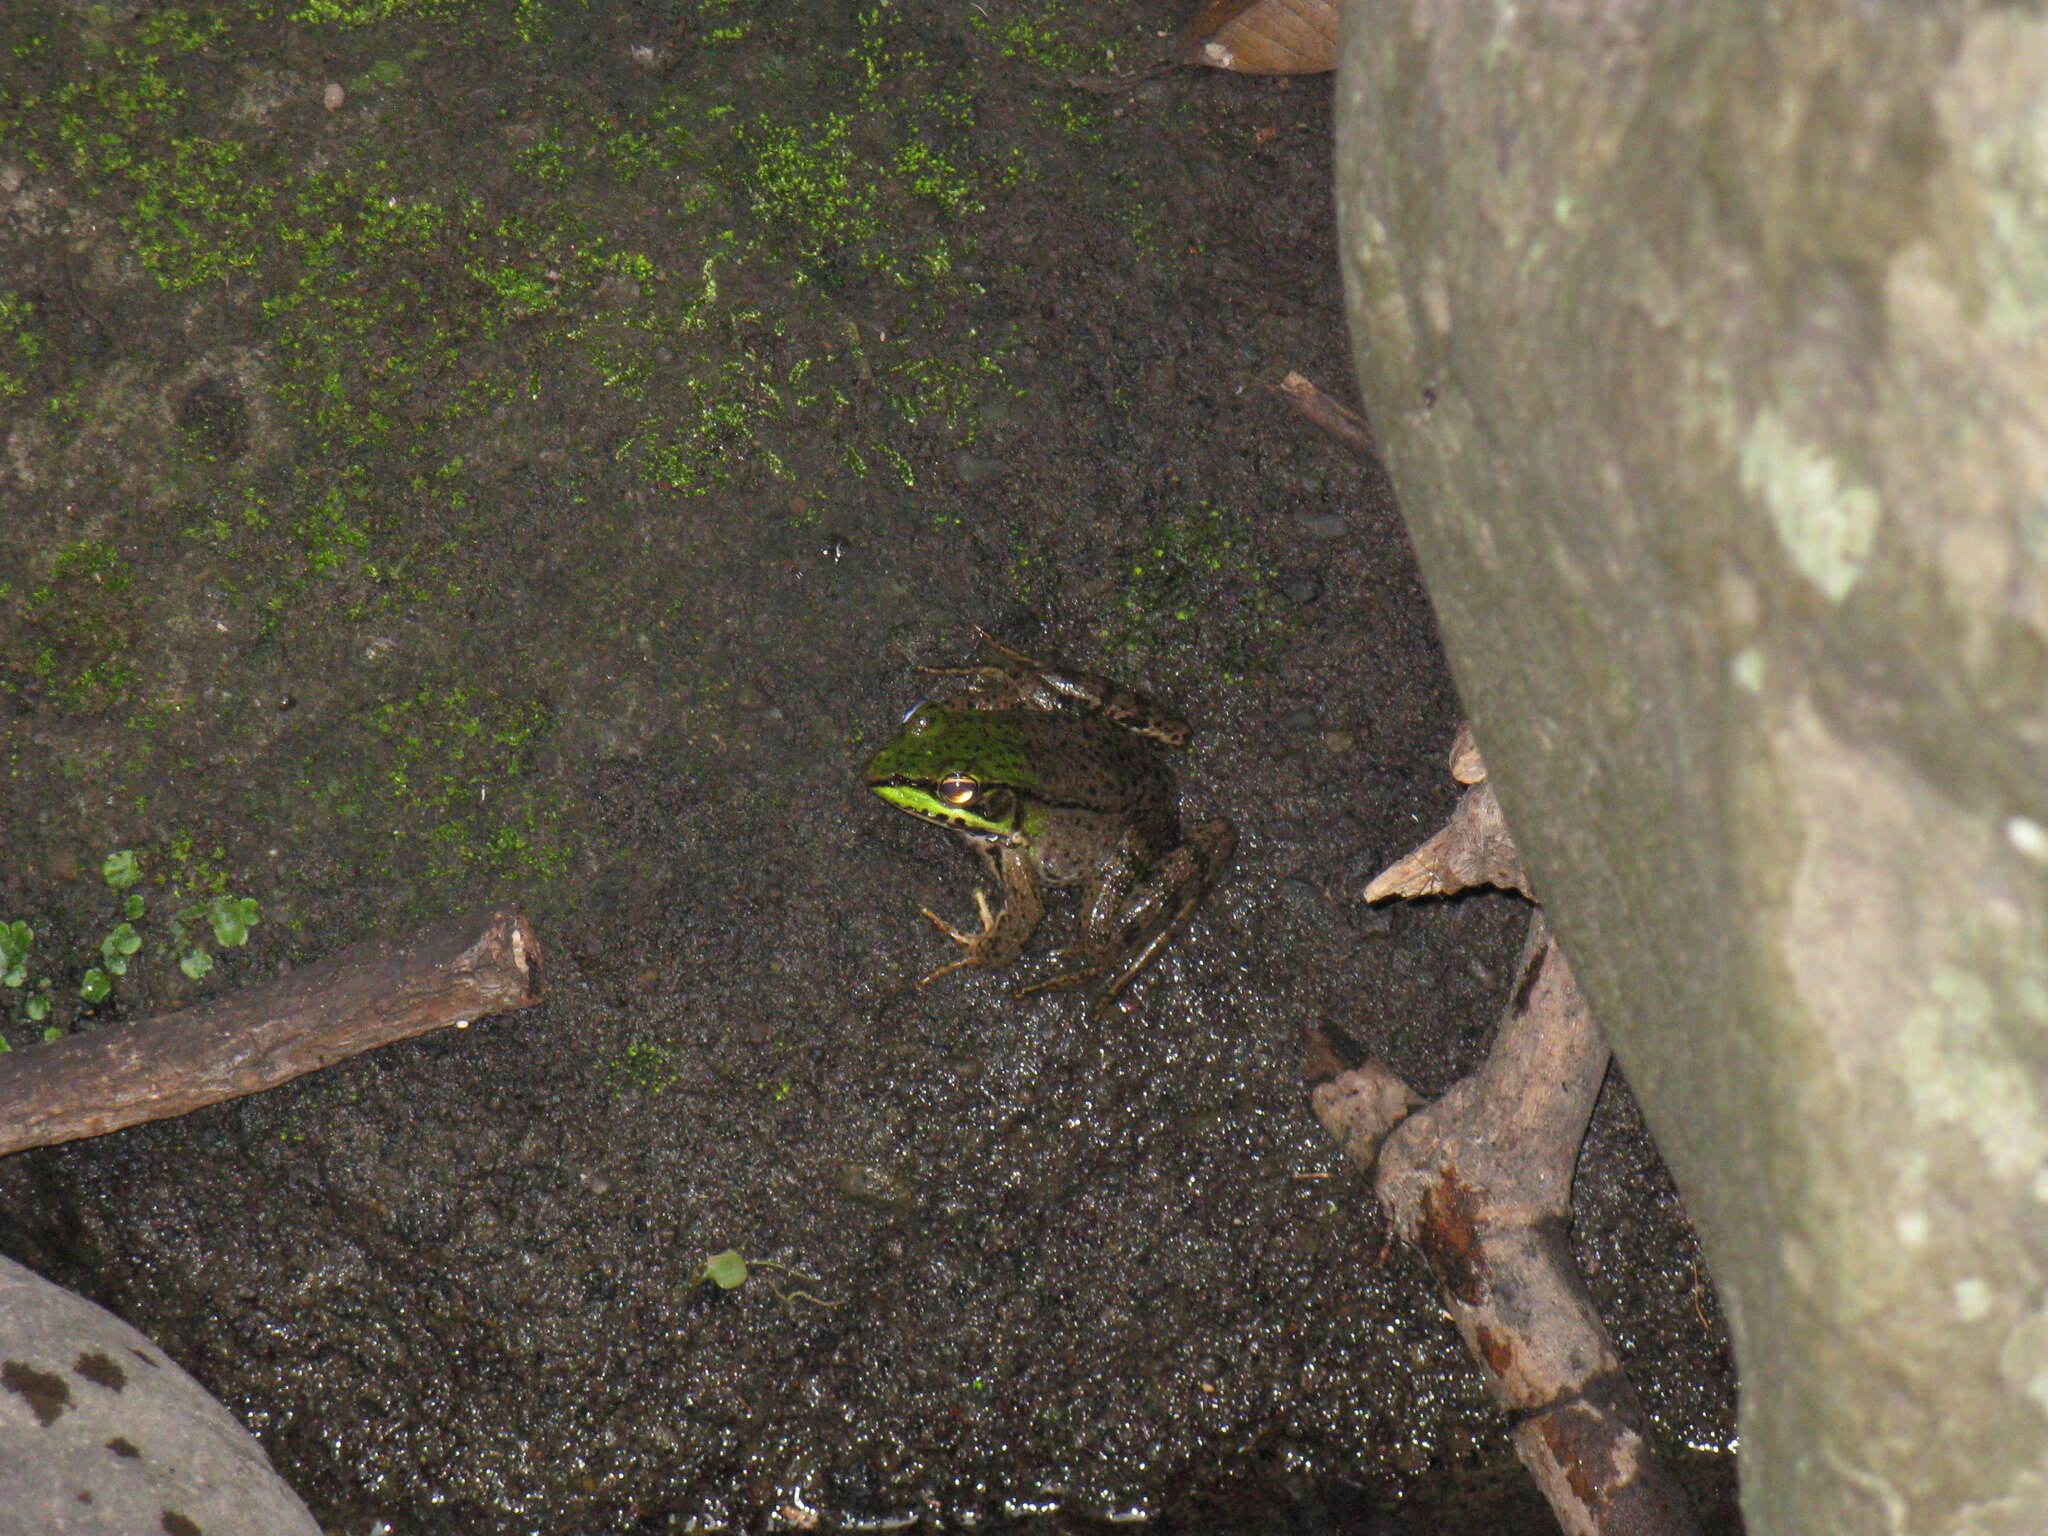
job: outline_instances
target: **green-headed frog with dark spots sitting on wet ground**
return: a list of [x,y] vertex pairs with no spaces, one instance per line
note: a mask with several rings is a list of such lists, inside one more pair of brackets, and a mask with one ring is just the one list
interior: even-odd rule
[[1188,725],[1139,692],[1092,672],[1051,668],[975,631],[993,662],[926,668],[969,684],[903,717],[903,733],[864,770],[868,788],[924,821],[950,827],[981,854],[1001,907],[975,891],[981,932],[924,915],[961,946],[920,985],[969,965],[1008,965],[1044,915],[1047,887],[1081,887],[1085,965],[1038,981],[1108,977],[1106,1008],[1178,934],[1237,848],[1223,819],[1180,829],[1174,772],[1161,745]]

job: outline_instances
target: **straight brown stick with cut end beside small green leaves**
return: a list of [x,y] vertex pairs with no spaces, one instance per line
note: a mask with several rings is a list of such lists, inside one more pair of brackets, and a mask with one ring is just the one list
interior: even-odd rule
[[0,1055],[0,1155],[256,1094],[379,1044],[532,1008],[541,987],[526,918],[471,913],[213,1004],[12,1051]]

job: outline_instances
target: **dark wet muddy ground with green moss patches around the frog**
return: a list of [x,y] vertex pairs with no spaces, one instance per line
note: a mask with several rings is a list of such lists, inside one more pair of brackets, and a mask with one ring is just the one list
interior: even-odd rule
[[[1384,481],[1266,387],[1348,393],[1329,82],[1145,74],[1182,10],[0,14],[8,1040],[487,903],[547,946],[541,1010],[0,1165],[0,1249],[330,1530],[1548,1528],[1305,1110],[1311,1020],[1470,1065],[1524,911],[1358,901],[1456,702]],[[1071,905],[918,987],[977,870],[854,770],[977,625],[1190,715],[1241,834],[1100,1022],[1012,997]],[[1612,1085],[1577,1243],[1729,1528]]]

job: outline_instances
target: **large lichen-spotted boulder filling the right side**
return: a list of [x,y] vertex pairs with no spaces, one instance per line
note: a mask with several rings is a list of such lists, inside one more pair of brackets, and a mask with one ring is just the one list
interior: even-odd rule
[[2048,18],[1354,4],[1337,190],[1751,1530],[2048,1532]]

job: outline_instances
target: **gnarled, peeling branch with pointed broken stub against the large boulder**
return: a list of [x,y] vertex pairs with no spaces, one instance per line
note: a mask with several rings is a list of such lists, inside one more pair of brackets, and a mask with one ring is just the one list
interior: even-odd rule
[[[1526,891],[1468,735],[1452,762],[1473,788],[1452,823],[1395,870],[1425,870],[1409,887],[1419,893],[1479,883]],[[1401,891],[1395,870],[1372,889]],[[1356,1053],[1341,1065],[1346,1044],[1311,1034],[1315,1114],[1352,1161],[1376,1169],[1395,1233],[1436,1272],[1559,1524],[1571,1536],[1696,1536],[1692,1503],[1651,1450],[1649,1417],[1567,1241],[1608,1042],[1542,911],[1493,1051],[1440,1100],[1415,1108],[1399,1075]]]

